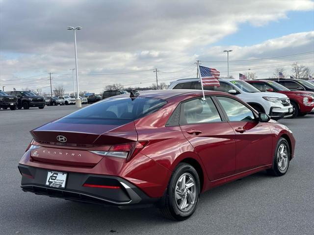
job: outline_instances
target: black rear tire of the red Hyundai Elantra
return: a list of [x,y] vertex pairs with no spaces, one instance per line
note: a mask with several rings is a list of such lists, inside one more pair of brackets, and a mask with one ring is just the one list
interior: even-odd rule
[[[176,198],[176,189],[178,189],[177,186],[180,183],[179,179],[185,176],[192,178],[195,182],[193,199],[194,201],[193,203],[189,204],[189,206],[187,206],[188,210],[182,211],[181,209],[179,209],[178,202],[182,202],[182,200],[186,200],[186,202],[191,200],[189,197],[188,190],[186,190],[185,187],[184,191],[182,192],[182,195],[184,195],[183,196],[184,199]],[[177,166],[177,168],[173,171],[172,176],[170,178],[167,191],[165,192],[165,196],[163,197],[163,205],[160,207],[161,213],[166,218],[171,220],[182,221],[189,218],[197,208],[201,190],[200,188],[201,188],[200,179],[195,168],[190,164],[180,163]],[[190,192],[192,192],[192,188],[190,189],[191,189]]]

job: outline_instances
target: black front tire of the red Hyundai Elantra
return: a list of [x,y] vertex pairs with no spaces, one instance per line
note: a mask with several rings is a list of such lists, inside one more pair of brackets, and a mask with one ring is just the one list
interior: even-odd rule
[[[280,148],[283,145],[285,145],[287,149],[285,158],[282,158],[282,156],[280,156],[280,153],[279,153]],[[282,164],[285,163],[284,170],[281,169],[282,167],[280,167],[280,164],[278,163],[280,162],[280,159],[282,159]],[[284,161],[284,159],[287,159],[287,162]],[[287,173],[288,168],[289,168],[289,162],[290,162],[290,147],[289,147],[288,141],[285,138],[280,138],[279,141],[277,142],[277,146],[275,149],[273,165],[270,169],[267,169],[267,173],[274,176],[282,176]]]

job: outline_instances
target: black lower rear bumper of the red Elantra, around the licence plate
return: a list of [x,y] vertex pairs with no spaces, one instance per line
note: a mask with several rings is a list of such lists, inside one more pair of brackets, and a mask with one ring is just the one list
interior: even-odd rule
[[[26,192],[121,208],[149,206],[158,201],[158,198],[149,197],[129,181],[117,176],[66,172],[65,188],[52,188],[46,185],[47,169],[23,164],[19,164],[18,168],[22,174],[21,188]],[[84,184],[116,188],[85,187]]]

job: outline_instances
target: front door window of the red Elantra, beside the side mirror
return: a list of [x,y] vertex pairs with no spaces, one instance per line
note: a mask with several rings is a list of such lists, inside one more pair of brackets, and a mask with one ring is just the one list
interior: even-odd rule
[[223,96],[217,96],[217,99],[230,121],[252,121],[255,119],[253,112],[239,101]]

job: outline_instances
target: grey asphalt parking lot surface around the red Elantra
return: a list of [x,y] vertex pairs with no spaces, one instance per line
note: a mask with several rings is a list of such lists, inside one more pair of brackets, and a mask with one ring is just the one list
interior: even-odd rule
[[314,234],[314,115],[279,121],[297,141],[285,176],[261,172],[211,189],[190,219],[174,222],[154,208],[120,210],[21,190],[17,165],[31,141],[29,130],[76,109],[0,110],[0,234]]

